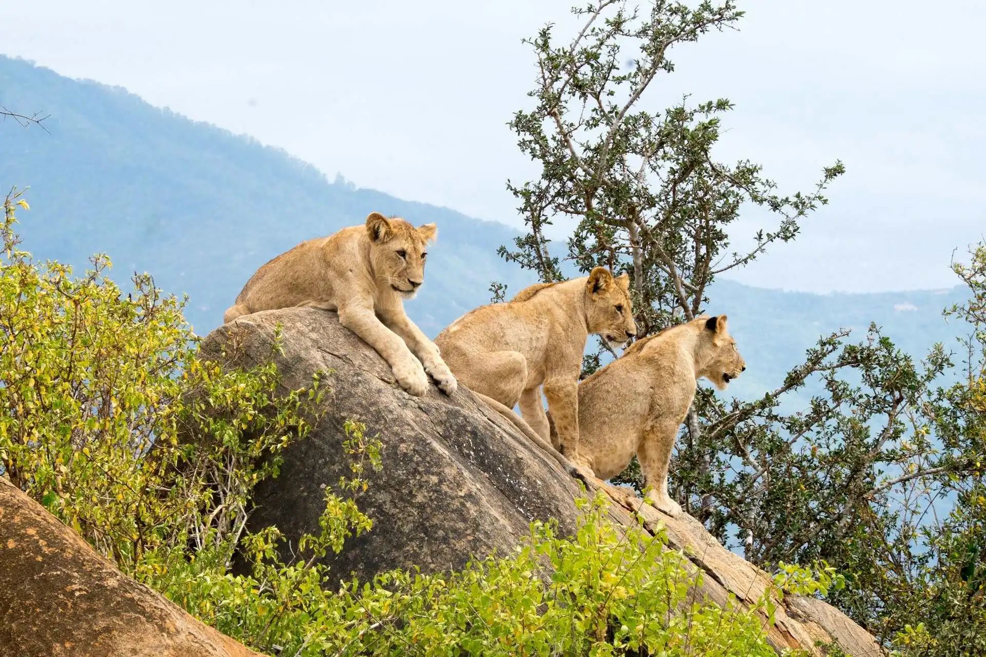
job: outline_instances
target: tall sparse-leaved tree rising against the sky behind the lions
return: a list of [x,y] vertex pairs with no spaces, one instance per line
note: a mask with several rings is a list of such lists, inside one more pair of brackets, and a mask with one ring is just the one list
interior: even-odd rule
[[[826,167],[810,194],[780,196],[759,165],[714,159],[719,115],[733,107],[728,99],[690,105],[685,98],[663,112],[640,108],[660,76],[674,70],[672,46],[734,27],[742,12],[732,0],[694,9],[657,0],[647,12],[598,0],[573,13],[584,23],[572,41],[556,44],[550,25],[527,41],[537,58],[529,94],[536,103],[510,125],[542,172],[523,185],[508,182],[528,233],[515,250],[501,247],[500,254],[543,281],[560,280],[544,229],[559,220],[575,223],[568,258],[583,272],[597,265],[630,272],[642,338],[679,318],[693,319],[718,274],[797,235],[799,220],[826,203],[821,192],[843,166]],[[728,230],[746,204],[766,208],[776,225],[757,231],[748,250],[730,251]],[[599,352],[588,357],[586,373],[598,365]],[[707,477],[713,453],[694,449],[700,441],[694,409],[686,425],[691,456]]]

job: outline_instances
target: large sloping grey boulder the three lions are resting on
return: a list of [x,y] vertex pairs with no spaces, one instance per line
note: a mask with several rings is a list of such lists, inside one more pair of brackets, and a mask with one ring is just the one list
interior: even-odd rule
[[[253,529],[276,524],[293,546],[302,533],[318,531],[324,487],[348,474],[341,446],[346,420],[380,436],[384,469],[370,475],[369,491],[359,498],[373,530],[327,558],[340,578],[354,572],[368,579],[394,567],[458,569],[472,555],[511,552],[535,518],[574,528],[580,486],[550,456],[461,385],[451,398],[434,386],[425,397],[406,394],[387,363],[334,313],[291,308],[246,315],[213,331],[203,355],[242,366],[268,361],[278,324],[282,353],[274,358],[284,386],[310,385],[317,370],[333,373],[317,430],[291,445],[280,476],[258,489]],[[671,547],[685,550],[695,571],[704,572],[701,593],[710,599],[725,604],[733,594],[749,604],[770,586],[767,573],[723,548],[697,520],[634,506],[649,527],[663,521]],[[610,513],[633,522],[618,504]],[[776,621],[768,640],[778,651],[800,646],[821,655],[816,646],[834,640],[850,655],[881,653],[871,634],[818,600],[787,596]]]

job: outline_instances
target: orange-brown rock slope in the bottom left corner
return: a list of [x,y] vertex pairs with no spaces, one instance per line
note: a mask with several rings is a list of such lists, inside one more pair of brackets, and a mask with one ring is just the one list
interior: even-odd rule
[[0,655],[259,657],[121,573],[4,479]]

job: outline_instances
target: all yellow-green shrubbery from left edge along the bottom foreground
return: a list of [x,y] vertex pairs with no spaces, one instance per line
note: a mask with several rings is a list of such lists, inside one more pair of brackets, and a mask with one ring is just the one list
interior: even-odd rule
[[[535,522],[507,556],[461,572],[391,571],[341,582],[318,562],[373,523],[358,508],[381,443],[347,423],[351,472],[325,492],[320,531],[285,563],[276,528],[246,531],[249,496],[311,429],[306,390],[275,395],[273,364],[201,361],[181,316],[147,276],[124,294],[104,276],[38,265],[0,226],[0,468],[106,556],[208,624],[279,655],[772,655],[773,603],[722,609],[664,537],[616,528],[582,501],[572,538]],[[234,575],[239,552],[249,574]],[[773,593],[829,581],[791,568]]]

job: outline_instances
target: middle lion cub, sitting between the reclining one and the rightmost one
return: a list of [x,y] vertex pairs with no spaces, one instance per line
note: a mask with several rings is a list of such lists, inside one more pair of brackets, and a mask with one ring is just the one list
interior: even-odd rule
[[[507,303],[491,303],[459,317],[435,339],[465,386],[521,413],[550,439],[541,403],[543,386],[558,427],[553,442],[572,463],[579,456],[578,382],[589,334],[625,344],[637,330],[629,279],[597,267],[588,277],[538,284]],[[617,309],[618,308],[618,309]]]

